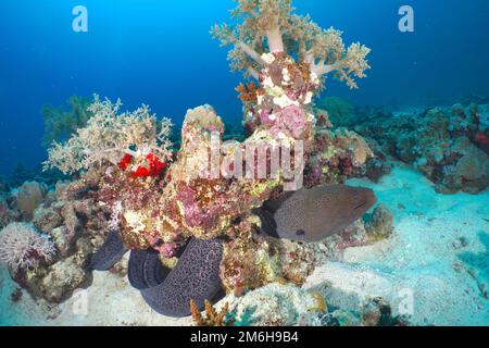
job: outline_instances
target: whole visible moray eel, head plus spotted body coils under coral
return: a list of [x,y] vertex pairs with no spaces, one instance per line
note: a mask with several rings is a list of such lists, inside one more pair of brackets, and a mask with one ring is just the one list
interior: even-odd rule
[[[262,221],[262,231],[277,238],[321,241],[359,220],[377,198],[371,189],[327,185],[301,189],[267,201],[253,212]],[[106,271],[127,249],[116,232],[92,257],[91,269]],[[163,266],[153,250],[133,250],[128,278],[158,313],[180,318],[190,314],[190,300],[203,309],[205,300],[217,301],[222,281],[220,265],[223,244],[220,239],[191,238],[173,270]]]

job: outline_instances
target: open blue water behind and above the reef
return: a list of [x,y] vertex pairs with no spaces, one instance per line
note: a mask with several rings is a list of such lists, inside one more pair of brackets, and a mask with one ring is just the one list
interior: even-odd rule
[[[72,30],[72,9],[89,11],[89,32]],[[398,9],[415,10],[415,33],[398,29]],[[373,49],[368,78],[327,94],[359,103],[413,105],[489,94],[487,0],[296,0],[347,42]],[[127,108],[147,103],[180,123],[189,108],[211,103],[227,122],[241,119],[226,49],[209,28],[228,21],[231,0],[1,0],[0,174],[46,157],[45,103],[98,92]]]

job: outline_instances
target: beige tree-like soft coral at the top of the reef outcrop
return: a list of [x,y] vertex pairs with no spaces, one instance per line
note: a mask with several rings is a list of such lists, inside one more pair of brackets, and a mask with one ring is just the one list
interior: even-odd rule
[[216,25],[211,30],[223,46],[234,46],[229,52],[233,70],[244,71],[259,79],[260,71],[266,65],[263,53],[288,53],[298,63],[308,64],[322,83],[322,77],[334,73],[350,88],[356,88],[355,77],[365,77],[371,50],[361,44],[347,48],[342,32],[323,29],[309,16],[292,14],[291,0],[237,2],[231,13],[240,23]]

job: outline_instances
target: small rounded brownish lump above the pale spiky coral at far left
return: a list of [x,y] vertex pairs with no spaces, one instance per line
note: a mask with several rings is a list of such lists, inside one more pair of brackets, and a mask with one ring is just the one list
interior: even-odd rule
[[45,184],[25,182],[11,192],[13,207],[22,213],[25,221],[30,221],[34,217],[34,211],[42,203],[47,192],[48,188]]

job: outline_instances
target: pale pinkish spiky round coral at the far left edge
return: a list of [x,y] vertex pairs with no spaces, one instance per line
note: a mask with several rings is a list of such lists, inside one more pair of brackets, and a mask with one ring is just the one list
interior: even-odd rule
[[12,223],[0,232],[0,262],[18,274],[49,262],[55,247],[49,236],[40,234],[34,225]]

